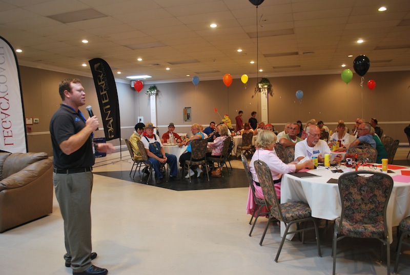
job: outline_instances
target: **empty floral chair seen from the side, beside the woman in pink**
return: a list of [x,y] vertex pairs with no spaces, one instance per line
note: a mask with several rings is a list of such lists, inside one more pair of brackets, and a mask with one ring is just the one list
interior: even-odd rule
[[[317,243],[317,252],[319,257],[322,257],[320,252],[320,243],[319,243],[319,228],[315,218],[312,217],[312,210],[307,203],[304,202],[287,202],[279,204],[278,197],[273,188],[272,173],[269,166],[263,161],[257,160],[254,163],[256,173],[258,174],[258,179],[260,186],[263,190],[263,195],[265,197],[265,204],[271,205],[271,214],[269,222],[272,219],[278,219],[279,221],[285,223],[286,229],[283,233],[282,241],[280,242],[278,252],[276,253],[275,262],[278,262],[280,251],[282,250],[283,243],[286,239],[286,235],[304,232],[306,230],[315,229],[316,232],[316,243]],[[299,224],[306,221],[312,221],[314,226],[308,228],[300,228]],[[297,229],[289,231],[291,225],[296,224]],[[265,231],[267,228],[265,228]],[[302,234],[302,243],[304,243],[304,234]]]

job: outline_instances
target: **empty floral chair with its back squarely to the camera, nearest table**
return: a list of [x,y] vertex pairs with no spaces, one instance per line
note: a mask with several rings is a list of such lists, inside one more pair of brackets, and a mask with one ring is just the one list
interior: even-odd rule
[[393,189],[392,177],[379,172],[356,171],[342,174],[338,185],[342,213],[335,220],[333,274],[336,271],[336,245],[344,237],[374,238],[381,241],[386,246],[387,274],[390,274],[386,209]]

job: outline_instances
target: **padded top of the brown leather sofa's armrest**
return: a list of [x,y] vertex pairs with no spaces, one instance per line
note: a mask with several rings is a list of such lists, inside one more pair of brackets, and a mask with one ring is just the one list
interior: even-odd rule
[[51,158],[37,161],[0,181],[0,191],[27,185],[44,174],[52,165]]

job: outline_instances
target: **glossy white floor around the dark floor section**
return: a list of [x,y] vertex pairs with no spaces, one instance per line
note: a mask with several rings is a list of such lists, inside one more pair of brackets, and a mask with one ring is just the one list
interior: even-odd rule
[[[399,149],[397,156],[405,159],[407,152]],[[126,151],[122,156],[119,162],[119,153],[98,159],[95,171],[129,170]],[[242,168],[239,161],[232,164]],[[98,257],[93,263],[118,275],[331,274],[332,227],[327,232],[321,227],[322,258],[309,238],[305,244],[286,241],[275,263],[279,228],[271,226],[259,246],[266,221],[260,218],[249,237],[247,197],[248,188],[173,191],[95,175],[92,237]],[[377,241],[345,240],[338,245],[338,274],[386,273],[385,263],[377,261]],[[54,200],[48,217],[0,234],[0,274],[71,274],[64,253],[63,220]],[[410,274],[409,259],[410,251],[404,251],[400,274]]]

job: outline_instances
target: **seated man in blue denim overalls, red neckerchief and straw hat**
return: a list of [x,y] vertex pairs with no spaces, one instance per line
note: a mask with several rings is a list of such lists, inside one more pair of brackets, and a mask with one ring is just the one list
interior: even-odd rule
[[144,127],[145,132],[142,133],[141,141],[147,151],[149,162],[154,168],[158,181],[162,181],[161,163],[167,163],[171,169],[170,179],[176,179],[178,174],[178,167],[176,163],[176,156],[166,153],[162,148],[161,140],[157,134],[154,134],[154,124],[147,123]]

